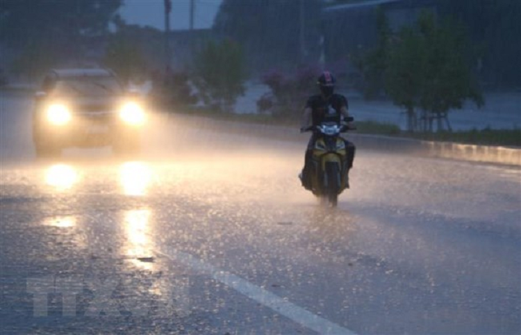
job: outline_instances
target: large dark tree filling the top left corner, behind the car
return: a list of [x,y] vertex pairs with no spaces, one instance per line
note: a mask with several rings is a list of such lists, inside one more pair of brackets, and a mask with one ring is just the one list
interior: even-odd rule
[[85,40],[108,34],[121,5],[122,0],[2,0],[0,41],[20,52],[18,72],[38,75],[47,70],[38,64],[81,57]]

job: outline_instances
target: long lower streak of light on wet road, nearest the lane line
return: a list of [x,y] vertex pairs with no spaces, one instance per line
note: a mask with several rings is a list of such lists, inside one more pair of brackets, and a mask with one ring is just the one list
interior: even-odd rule
[[152,243],[150,240],[149,209],[126,211],[124,214],[124,229],[127,243],[124,253],[131,258],[131,262],[145,270],[152,270],[154,263],[151,258]]

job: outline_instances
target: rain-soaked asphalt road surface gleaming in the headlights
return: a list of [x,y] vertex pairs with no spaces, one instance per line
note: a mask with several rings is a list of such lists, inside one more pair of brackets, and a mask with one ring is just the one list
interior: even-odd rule
[[172,117],[132,161],[36,161],[31,101],[0,108],[0,334],[521,332],[519,169],[358,152],[330,210],[305,137]]

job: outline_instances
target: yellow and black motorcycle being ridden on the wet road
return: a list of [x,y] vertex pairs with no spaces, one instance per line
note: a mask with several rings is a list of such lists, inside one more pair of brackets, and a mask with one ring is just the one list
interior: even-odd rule
[[[352,122],[353,118],[349,117],[346,121]],[[338,195],[348,187],[347,148],[340,133],[354,129],[346,124],[323,122],[302,130],[314,131],[319,135],[313,146],[311,192],[331,207],[337,206]]]

